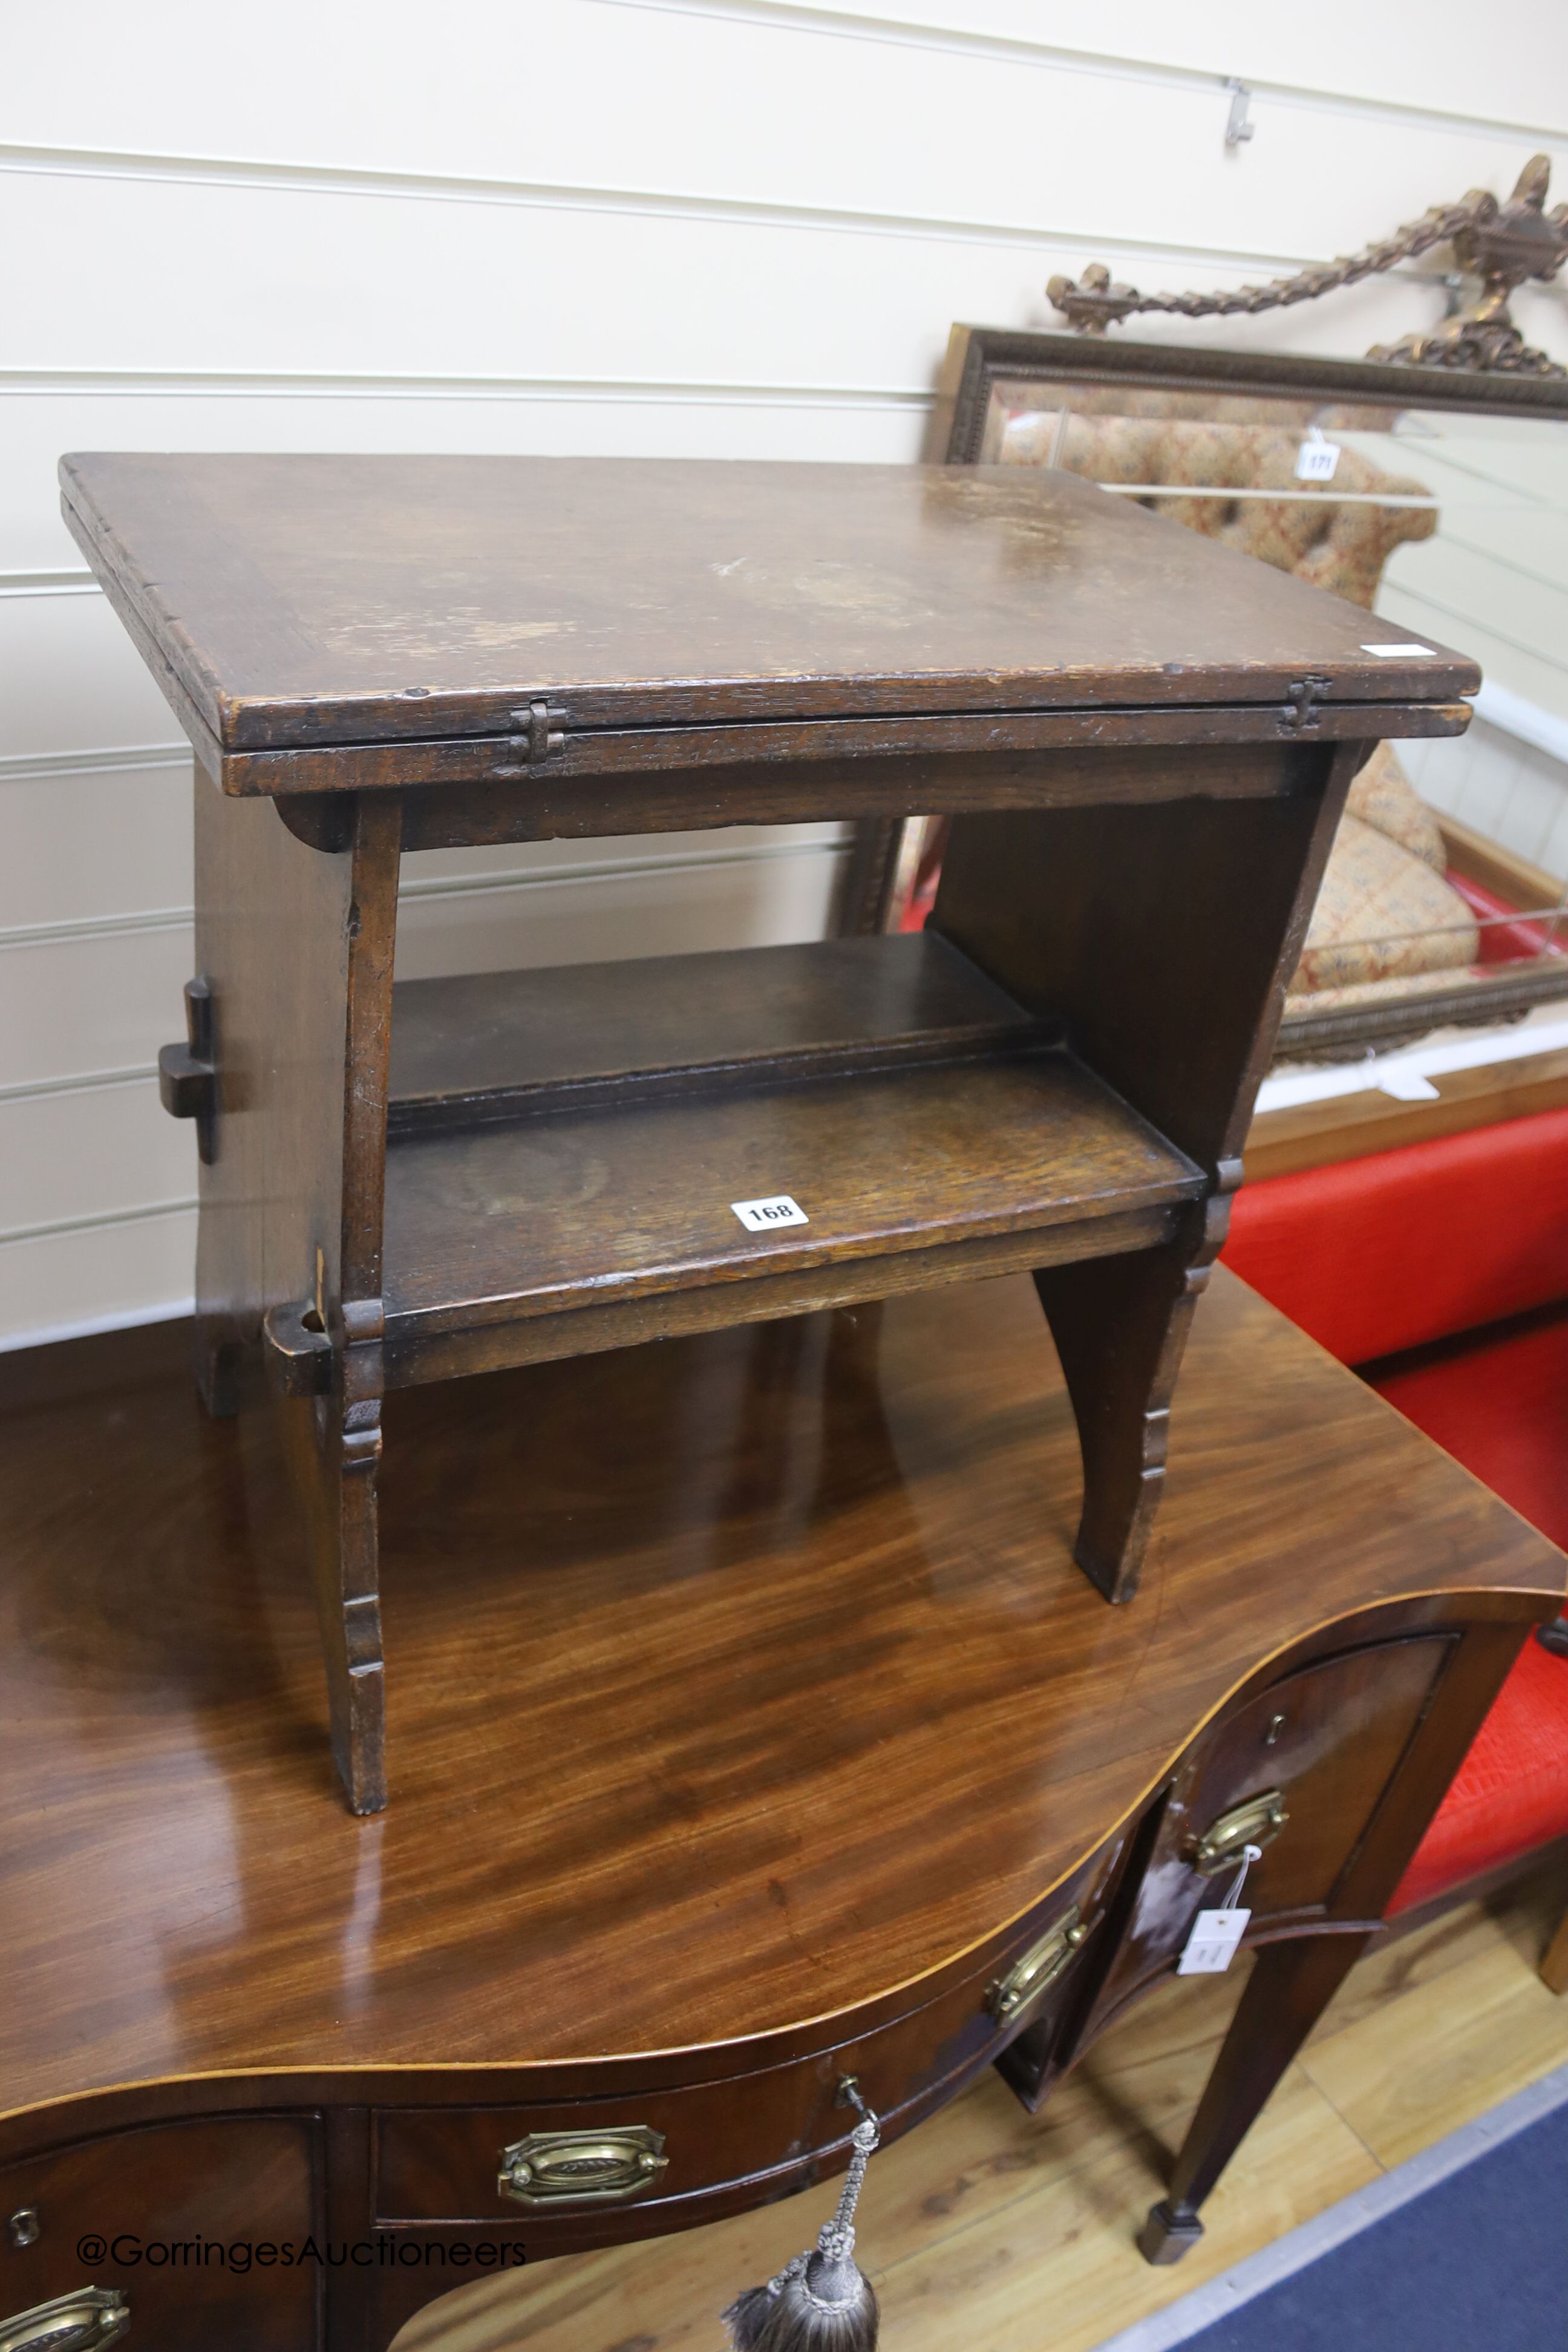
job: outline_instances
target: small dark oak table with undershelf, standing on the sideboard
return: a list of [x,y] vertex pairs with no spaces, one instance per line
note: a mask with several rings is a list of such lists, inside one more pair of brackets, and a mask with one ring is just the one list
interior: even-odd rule
[[[1027,1268],[1126,1599],[1349,776],[1474,663],[1027,468],[61,480],[197,750],[200,1381],[287,1399],[350,1806],[395,1388]],[[393,988],[409,849],[933,809],[919,938]]]

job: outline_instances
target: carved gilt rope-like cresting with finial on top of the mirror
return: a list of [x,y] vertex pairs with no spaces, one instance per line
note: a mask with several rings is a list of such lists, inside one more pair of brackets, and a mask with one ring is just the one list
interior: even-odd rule
[[1542,282],[1556,278],[1568,259],[1568,205],[1547,212],[1549,181],[1552,160],[1533,155],[1507,202],[1497,202],[1486,188],[1472,188],[1458,205],[1434,205],[1420,221],[1396,228],[1378,245],[1363,245],[1356,254],[1260,287],[1232,287],[1220,294],[1140,294],[1138,287],[1117,285],[1103,261],[1091,261],[1081,278],[1053,278],[1046,292],[1079,334],[1100,336],[1135,313],[1255,318],[1262,310],[1335,294],[1361,278],[1413,261],[1434,245],[1453,245],[1458,268],[1481,280],[1476,299],[1429,334],[1375,343],[1368,360],[1474,374],[1568,376],[1568,369],[1544,350],[1530,348],[1509,318],[1509,296],[1533,278]]

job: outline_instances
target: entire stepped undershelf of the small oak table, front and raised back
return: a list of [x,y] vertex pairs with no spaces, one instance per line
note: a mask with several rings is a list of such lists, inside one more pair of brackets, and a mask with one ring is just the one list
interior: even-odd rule
[[[400,1385],[1140,1249],[1204,1192],[933,936],[411,983],[393,1035]],[[806,1223],[733,1211],[776,1195]]]

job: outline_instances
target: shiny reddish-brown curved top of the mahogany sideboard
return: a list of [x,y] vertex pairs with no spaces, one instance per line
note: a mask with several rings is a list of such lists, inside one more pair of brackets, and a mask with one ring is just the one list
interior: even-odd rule
[[355,1820],[266,1416],[202,1418],[183,1327],[0,1364],[0,2110],[914,1999],[1265,1658],[1413,1592],[1547,1616],[1563,1583],[1225,1272],[1128,1609],[1070,1557],[1027,1277],[388,1416],[393,1806]]

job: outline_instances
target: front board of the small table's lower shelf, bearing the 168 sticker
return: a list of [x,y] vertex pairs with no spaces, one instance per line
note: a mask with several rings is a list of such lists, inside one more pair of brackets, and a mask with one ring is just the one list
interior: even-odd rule
[[[1060,1049],[541,1110],[393,1141],[388,1331],[1088,1225],[1201,1192],[1201,1169]],[[752,1232],[736,1216],[778,1195],[806,1223]]]

